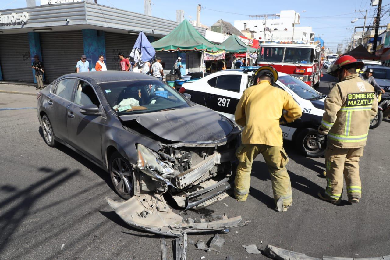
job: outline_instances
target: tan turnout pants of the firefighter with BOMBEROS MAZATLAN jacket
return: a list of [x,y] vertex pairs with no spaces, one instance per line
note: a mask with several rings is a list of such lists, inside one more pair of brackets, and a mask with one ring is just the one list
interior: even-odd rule
[[326,180],[325,196],[332,201],[340,201],[344,186],[347,185],[348,199],[360,199],[362,183],[359,176],[359,160],[364,147],[338,148],[328,142],[325,151]]

